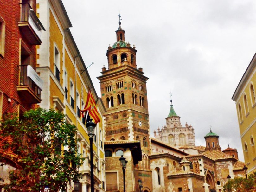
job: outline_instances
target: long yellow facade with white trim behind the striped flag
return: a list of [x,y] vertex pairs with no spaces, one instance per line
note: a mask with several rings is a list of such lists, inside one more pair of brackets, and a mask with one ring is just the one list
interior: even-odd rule
[[[69,30],[72,25],[62,2],[37,0],[37,16],[46,29],[42,34],[42,44],[37,47],[36,72],[44,81],[39,106],[62,111],[66,121],[77,127],[77,138],[81,140],[77,144],[78,153],[86,158],[79,169],[82,173],[79,191],[90,191],[90,143],[80,110],[84,108],[89,87],[93,84]],[[91,91],[101,119],[93,140],[94,188],[105,191],[102,115],[106,109],[95,89]],[[69,186],[69,191],[72,190],[73,185]]]

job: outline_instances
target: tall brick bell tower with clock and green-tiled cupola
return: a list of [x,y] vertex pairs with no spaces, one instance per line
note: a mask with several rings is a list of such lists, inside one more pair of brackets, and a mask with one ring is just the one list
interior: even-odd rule
[[[116,42],[109,45],[106,56],[108,69],[102,68],[100,80],[101,98],[106,107],[105,141],[138,140],[141,143],[142,161],[149,162],[150,129],[146,81],[143,69],[137,69],[135,46],[125,42],[125,30],[116,31]],[[148,171],[147,165],[139,162],[138,170]],[[135,171],[134,171],[135,172]],[[143,172],[142,174],[145,174]]]

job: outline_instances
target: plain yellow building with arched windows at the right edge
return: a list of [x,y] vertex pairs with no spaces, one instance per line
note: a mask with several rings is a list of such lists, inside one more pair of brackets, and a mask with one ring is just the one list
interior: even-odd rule
[[256,171],[256,54],[240,80],[232,100],[236,103],[240,137],[248,174]]

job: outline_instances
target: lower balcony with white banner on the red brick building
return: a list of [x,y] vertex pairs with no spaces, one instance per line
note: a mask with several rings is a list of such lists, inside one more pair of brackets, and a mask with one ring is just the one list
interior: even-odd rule
[[30,65],[20,65],[18,94],[26,103],[40,103],[43,80]]

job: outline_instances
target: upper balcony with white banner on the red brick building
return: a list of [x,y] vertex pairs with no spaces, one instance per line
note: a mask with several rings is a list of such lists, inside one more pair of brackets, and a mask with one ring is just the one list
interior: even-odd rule
[[29,3],[20,3],[20,21],[19,29],[22,35],[31,45],[40,45],[42,30],[45,31],[42,23],[30,7]]

